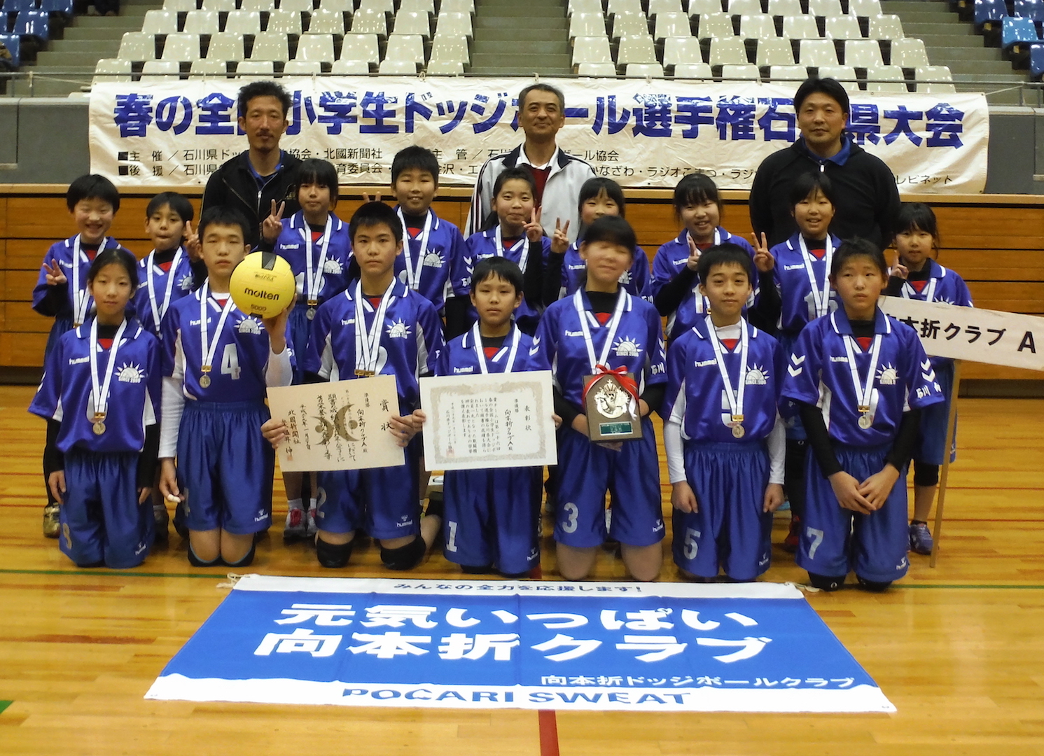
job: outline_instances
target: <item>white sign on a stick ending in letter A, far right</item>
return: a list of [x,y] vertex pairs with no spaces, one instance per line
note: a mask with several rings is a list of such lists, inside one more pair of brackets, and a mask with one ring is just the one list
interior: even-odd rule
[[912,327],[924,351],[933,357],[1044,370],[1044,317],[902,297],[877,302],[884,312]]

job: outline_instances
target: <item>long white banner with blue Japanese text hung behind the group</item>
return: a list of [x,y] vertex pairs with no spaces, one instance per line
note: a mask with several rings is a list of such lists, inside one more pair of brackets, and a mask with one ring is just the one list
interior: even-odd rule
[[[749,189],[761,161],[791,144],[797,84],[673,79],[542,79],[566,98],[559,144],[627,187],[673,187],[693,171]],[[482,163],[522,141],[527,78],[285,77],[293,97],[282,147],[332,162],[342,184],[389,184],[395,153],[435,151],[444,184],[473,184]],[[240,84],[104,82],[91,90],[91,171],[120,188],[192,186],[246,149]],[[849,131],[904,193],[986,186],[990,118],[982,94],[853,96]]]

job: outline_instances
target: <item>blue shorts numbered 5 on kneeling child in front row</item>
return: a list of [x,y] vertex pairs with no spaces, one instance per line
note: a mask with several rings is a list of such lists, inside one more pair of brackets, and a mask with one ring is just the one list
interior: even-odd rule
[[763,512],[768,450],[760,441],[685,444],[685,477],[698,512],[674,510],[674,564],[702,577],[718,566],[737,581],[768,569],[773,515]]

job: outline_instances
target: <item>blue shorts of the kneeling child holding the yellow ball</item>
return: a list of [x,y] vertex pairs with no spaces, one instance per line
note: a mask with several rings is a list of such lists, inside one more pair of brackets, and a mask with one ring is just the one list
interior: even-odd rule
[[185,402],[177,433],[177,486],[190,530],[237,536],[271,524],[276,451],[261,435],[263,402]]

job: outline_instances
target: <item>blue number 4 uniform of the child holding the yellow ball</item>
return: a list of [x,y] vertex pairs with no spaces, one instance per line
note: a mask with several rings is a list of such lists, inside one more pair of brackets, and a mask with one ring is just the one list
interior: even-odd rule
[[[292,369],[289,328],[286,339],[279,359]],[[271,524],[276,454],[261,435],[270,417],[264,400],[271,357],[261,320],[231,297],[222,304],[207,284],[175,302],[163,321],[160,457],[176,452],[190,530],[246,535]]]

